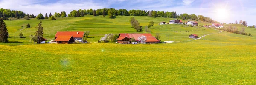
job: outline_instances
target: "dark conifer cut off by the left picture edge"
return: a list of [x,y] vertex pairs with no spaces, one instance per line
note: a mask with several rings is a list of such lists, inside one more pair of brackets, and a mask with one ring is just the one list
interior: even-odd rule
[[3,18],[0,18],[0,42],[8,42],[8,30]]

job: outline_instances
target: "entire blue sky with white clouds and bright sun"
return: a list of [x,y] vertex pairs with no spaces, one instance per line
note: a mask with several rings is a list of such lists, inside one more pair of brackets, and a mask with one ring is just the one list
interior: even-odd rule
[[225,23],[245,20],[256,24],[256,0],[0,0],[0,8],[20,10],[30,14],[49,14],[78,9],[142,9],[176,11],[212,17]]

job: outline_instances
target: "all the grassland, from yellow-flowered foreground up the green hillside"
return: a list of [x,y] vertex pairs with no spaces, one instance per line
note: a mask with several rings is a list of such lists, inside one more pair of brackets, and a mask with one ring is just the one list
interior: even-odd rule
[[[5,21],[10,43],[0,43],[0,84],[256,84],[256,29],[232,25],[252,34],[245,36],[201,26],[158,25],[172,19],[135,16],[141,26],[154,21],[152,35],[159,33],[160,40],[177,43],[96,43],[109,33],[145,33],[131,28],[130,17],[86,15],[42,20],[48,40],[53,40],[57,31],[90,31],[90,44],[33,44],[28,36],[35,33],[40,20]],[[26,28],[27,23],[31,28]],[[20,32],[26,38],[17,38]],[[210,35],[192,40],[190,34]]]

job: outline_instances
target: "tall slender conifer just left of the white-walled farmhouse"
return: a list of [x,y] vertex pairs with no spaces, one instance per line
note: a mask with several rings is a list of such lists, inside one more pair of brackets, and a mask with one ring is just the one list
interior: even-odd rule
[[36,26],[35,28],[37,28],[38,30],[35,32],[35,37],[37,38],[37,43],[40,44],[41,43],[41,39],[43,38],[43,26],[42,26],[42,21],[40,21],[40,23],[38,23],[38,26]]

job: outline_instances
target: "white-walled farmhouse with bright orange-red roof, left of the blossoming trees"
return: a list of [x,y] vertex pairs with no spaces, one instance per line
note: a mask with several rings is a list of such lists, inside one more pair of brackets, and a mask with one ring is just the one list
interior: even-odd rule
[[55,41],[57,43],[68,44],[75,41],[82,42],[84,37],[84,32],[81,31],[58,31],[55,35]]

